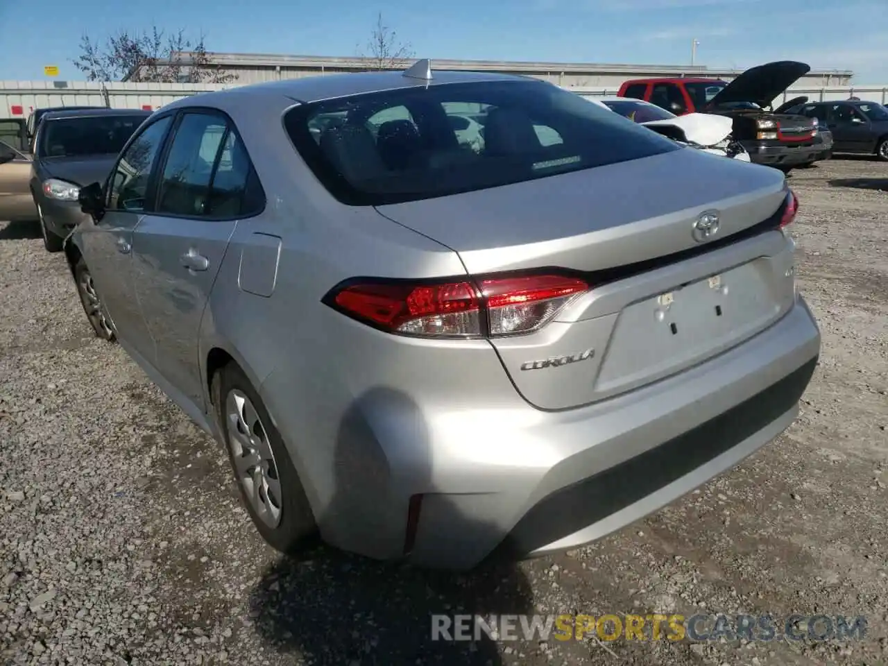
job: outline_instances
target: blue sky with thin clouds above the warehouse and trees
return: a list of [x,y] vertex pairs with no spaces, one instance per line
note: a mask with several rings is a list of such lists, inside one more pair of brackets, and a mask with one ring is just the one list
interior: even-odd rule
[[850,68],[858,84],[888,85],[888,0],[44,0],[36,6],[0,0],[0,79],[44,79],[44,65],[57,65],[59,79],[76,80],[70,59],[81,35],[100,38],[152,24],[202,33],[210,51],[354,56],[382,12],[417,57],[689,64],[696,38],[700,65],[800,59]]

